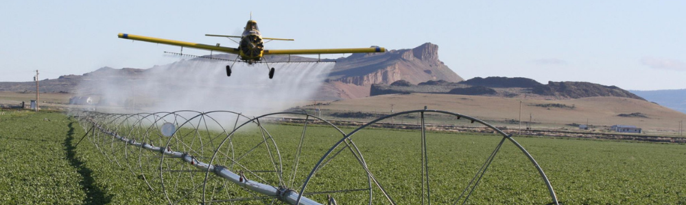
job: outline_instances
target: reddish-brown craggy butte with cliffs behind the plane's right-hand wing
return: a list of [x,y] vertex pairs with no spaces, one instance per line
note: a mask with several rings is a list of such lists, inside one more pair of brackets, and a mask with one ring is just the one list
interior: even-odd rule
[[[327,95],[332,98],[362,98],[369,96],[369,92],[351,94],[344,89],[354,85],[364,87],[363,90],[370,90],[372,84],[388,85],[400,80],[414,84],[438,80],[452,83],[463,81],[462,77],[438,59],[438,45],[425,43],[414,49],[392,50],[386,53],[356,53],[337,59],[336,66],[329,74],[328,83],[340,89],[328,89],[327,92],[330,94]],[[346,86],[341,86],[342,84]],[[342,92],[346,92],[347,95],[341,96]]]

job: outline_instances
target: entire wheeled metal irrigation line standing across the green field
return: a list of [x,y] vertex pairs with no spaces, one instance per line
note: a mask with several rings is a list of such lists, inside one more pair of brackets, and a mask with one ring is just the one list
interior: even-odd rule
[[[169,204],[471,204],[478,197],[503,203],[491,198],[526,190],[508,184],[522,178],[508,175],[517,170],[536,178],[526,186],[547,188],[534,191],[536,201],[559,204],[543,169],[511,135],[448,111],[394,113],[348,134],[292,112],[248,118],[230,111],[85,111],[78,119],[99,152],[140,174]],[[442,132],[451,128],[445,123],[484,134]],[[480,186],[497,191],[476,191]]]

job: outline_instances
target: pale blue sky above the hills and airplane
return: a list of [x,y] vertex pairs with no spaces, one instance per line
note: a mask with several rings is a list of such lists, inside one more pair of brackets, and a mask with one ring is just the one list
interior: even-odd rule
[[178,60],[163,55],[177,47],[117,33],[235,46],[204,34],[237,34],[251,11],[263,36],[296,39],[268,49],[431,42],[464,79],[686,88],[686,1],[5,1],[0,81],[31,81],[36,69],[54,79]]

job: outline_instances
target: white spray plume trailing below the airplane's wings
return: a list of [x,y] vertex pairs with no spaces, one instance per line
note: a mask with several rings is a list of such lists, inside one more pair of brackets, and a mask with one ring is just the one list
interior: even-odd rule
[[123,68],[89,74],[80,96],[100,96],[97,108],[110,113],[230,110],[246,115],[283,111],[310,100],[327,78],[332,63],[237,62],[189,59],[147,70]]

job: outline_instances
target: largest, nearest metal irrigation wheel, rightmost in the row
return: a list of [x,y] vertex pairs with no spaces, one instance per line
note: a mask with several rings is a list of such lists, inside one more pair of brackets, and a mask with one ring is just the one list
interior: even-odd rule
[[[487,150],[480,150],[480,152],[483,152],[486,156],[486,161],[482,165],[477,165],[472,166],[475,169],[475,172],[471,172],[474,174],[473,178],[469,180],[468,178],[464,178],[468,182],[463,182],[462,184],[464,187],[455,187],[455,184],[451,183],[446,183],[445,181],[453,180],[456,178],[456,176],[452,176],[451,173],[455,173],[456,171],[453,170],[453,168],[456,167],[451,167],[451,166],[446,166],[446,167],[441,167],[440,165],[443,165],[445,163],[440,163],[440,161],[451,161],[451,160],[456,160],[458,159],[458,156],[441,156],[438,159],[435,159],[437,153],[440,152],[445,152],[445,146],[447,146],[449,143],[437,143],[434,142],[438,141],[438,137],[433,138],[434,133],[428,133],[428,129],[433,129],[431,126],[427,125],[426,121],[429,119],[427,118],[428,114],[440,114],[440,115],[447,115],[449,118],[440,118],[440,119],[455,119],[455,120],[466,120],[465,122],[469,122],[470,124],[473,124],[474,122],[477,122],[478,124],[482,124],[485,128],[488,128],[492,131],[491,133],[495,132],[497,135],[501,135],[499,139],[497,137],[495,138],[496,140],[491,140],[488,142],[491,146],[495,146],[493,148],[493,151],[488,152]],[[401,136],[379,136],[379,134],[376,135],[364,135],[364,136],[359,136],[357,137],[356,134],[360,133],[363,131],[365,128],[368,128],[370,126],[374,125],[379,125],[379,123],[382,120],[391,120],[393,118],[399,118],[402,116],[410,116],[412,118],[416,118],[418,123],[416,124],[416,127],[414,130],[418,131],[418,133],[414,133],[414,137],[410,136],[407,137],[407,139],[403,140],[401,139]],[[416,116],[416,117],[413,117]],[[393,124],[392,124],[393,125]],[[410,125],[407,125],[410,126]],[[359,135],[359,134],[358,134]],[[383,134],[381,134],[383,135]],[[427,137],[431,136],[431,137]],[[527,152],[517,141],[512,139],[511,135],[508,135],[504,133],[503,131],[499,130],[495,126],[492,126],[482,120],[478,120],[476,118],[469,117],[467,115],[461,115],[458,113],[451,113],[448,111],[438,111],[438,110],[414,110],[414,111],[404,111],[400,113],[395,113],[392,115],[386,115],[382,118],[378,118],[377,120],[373,120],[372,122],[369,122],[367,124],[364,124],[363,126],[360,126],[359,128],[355,129],[351,133],[348,133],[343,139],[338,141],[334,146],[332,146],[329,151],[324,154],[324,156],[321,157],[319,162],[316,164],[314,169],[311,170],[309,176],[307,177],[307,180],[305,180],[304,186],[300,189],[300,192],[306,192],[307,189],[309,189],[309,186],[311,186],[311,182],[315,182],[316,180],[311,180],[311,177],[318,175],[318,172],[320,172],[320,167],[322,165],[325,165],[327,161],[332,156],[335,156],[336,150],[340,149],[339,147],[346,147],[348,146],[348,140],[355,138],[355,140],[358,143],[359,149],[364,150],[364,152],[374,152],[374,148],[381,148],[381,147],[389,147],[389,146],[398,146],[398,143],[406,143],[411,146],[409,149],[404,149],[404,150],[395,150],[395,153],[407,153],[407,152],[412,152],[415,153],[412,158],[404,158],[404,159],[399,159],[401,161],[401,164],[393,164],[393,163],[387,163],[392,160],[392,158],[396,157],[393,154],[390,154],[388,156],[384,157],[376,157],[377,159],[381,158],[381,160],[377,161],[366,161],[368,167],[365,167],[373,182],[375,182],[375,189],[378,189],[379,192],[376,195],[378,198],[381,198],[381,200],[375,199],[375,204],[405,204],[405,203],[410,203],[410,204],[431,204],[431,202],[435,203],[440,203],[440,204],[467,204],[469,201],[470,197],[473,195],[477,185],[480,184],[480,182],[484,182],[484,176],[486,174],[486,170],[490,167],[490,165],[493,163],[495,157],[497,156],[498,152],[501,150],[502,146],[504,145],[505,141],[510,141],[514,146],[516,146],[517,149],[521,150],[521,152],[524,154],[525,158],[528,159],[532,163],[532,165],[535,167],[537,172],[539,173],[540,178],[543,179],[543,182],[545,183],[545,187],[547,188],[550,201],[552,202],[550,204],[558,204],[555,192],[547,178],[545,176],[545,173],[543,173],[543,169],[539,166],[538,163],[534,160],[534,158]],[[385,138],[390,138],[394,137],[397,138],[397,140],[393,141],[393,144],[383,144],[381,146],[367,146],[373,145],[376,143],[375,140],[373,139],[368,139],[364,140],[364,138],[373,138],[373,137],[378,137],[379,139],[385,137]],[[457,139],[457,137],[453,137],[453,139]],[[364,141],[364,142],[361,142]],[[381,140],[378,140],[381,141]],[[388,141],[388,140],[383,140],[383,141]],[[446,141],[449,142],[449,141]],[[399,146],[405,148],[405,146]],[[442,150],[443,149],[443,150]],[[386,152],[375,152],[376,154],[384,154]],[[393,153],[393,152],[391,152]],[[448,152],[448,153],[454,153],[454,152]],[[490,153],[490,154],[489,154]],[[369,158],[369,154],[366,154]],[[397,154],[398,156],[405,156],[406,154]],[[509,156],[508,156],[509,157]],[[382,164],[381,166],[377,165],[377,163]],[[386,164],[387,163],[387,164]],[[466,163],[455,163],[455,165],[462,166],[466,165]],[[397,169],[403,169],[404,167],[411,167],[412,172],[402,172],[403,174],[399,175],[386,175],[386,177],[379,177],[381,174],[379,172],[384,172],[388,170],[388,167],[395,167]],[[444,172],[436,172],[437,169],[443,169]],[[533,169],[533,168],[532,168]],[[394,172],[397,172],[398,170],[392,170]],[[447,174],[447,175],[445,175]],[[401,178],[398,180],[398,178]],[[395,179],[395,182],[405,182],[405,183],[413,183],[409,184],[408,186],[403,186],[403,184],[392,184],[386,182],[388,179]],[[403,180],[404,179],[404,180]],[[442,183],[441,183],[442,182]],[[437,185],[442,185],[442,186],[437,186]],[[391,188],[388,188],[391,187]],[[408,190],[407,188],[398,188],[398,187],[410,187]],[[414,187],[414,189],[412,189]],[[440,191],[446,191],[446,195],[436,195],[432,194],[437,191],[437,188],[439,187],[438,190]],[[420,188],[420,190],[416,190],[416,188]],[[458,191],[461,190],[461,191]],[[494,194],[495,195],[495,194]],[[414,197],[412,197],[414,196]],[[409,202],[407,199],[411,199]],[[402,203],[398,203],[401,201]],[[298,202],[301,202],[300,199],[298,199]]]

